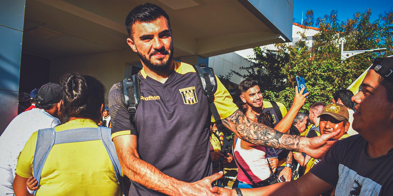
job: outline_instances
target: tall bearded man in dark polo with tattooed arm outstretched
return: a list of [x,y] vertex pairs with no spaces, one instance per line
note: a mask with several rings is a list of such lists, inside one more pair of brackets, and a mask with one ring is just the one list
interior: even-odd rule
[[[123,104],[120,83],[109,92],[109,113],[122,172],[132,180],[129,194],[213,195],[211,181],[220,175],[205,178],[211,174],[208,98],[195,69],[172,60],[169,16],[161,7],[147,3],[135,7],[125,24],[127,43],[143,65],[138,73],[143,98],[135,114],[136,129]],[[337,133],[308,139],[250,121],[218,79],[214,97],[223,125],[256,145],[320,157],[334,143],[328,139]]]

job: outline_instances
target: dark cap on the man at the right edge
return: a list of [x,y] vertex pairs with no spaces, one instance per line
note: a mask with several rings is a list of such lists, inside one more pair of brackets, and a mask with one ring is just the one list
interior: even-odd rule
[[374,69],[376,73],[393,83],[393,56],[375,58],[370,69]]

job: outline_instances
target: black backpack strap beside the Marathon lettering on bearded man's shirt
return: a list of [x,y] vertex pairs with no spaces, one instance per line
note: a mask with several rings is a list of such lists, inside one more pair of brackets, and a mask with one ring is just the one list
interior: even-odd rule
[[121,81],[120,88],[122,90],[121,92],[123,93],[123,104],[125,105],[128,113],[130,114],[130,122],[132,126],[136,129],[135,113],[141,99],[141,89],[138,74],[129,76],[123,81]]

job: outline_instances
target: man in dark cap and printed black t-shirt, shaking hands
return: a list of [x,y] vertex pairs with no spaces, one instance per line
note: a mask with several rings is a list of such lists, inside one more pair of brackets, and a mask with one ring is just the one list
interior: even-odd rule
[[[336,196],[393,195],[393,56],[377,58],[367,72],[356,103],[353,129],[359,134],[338,141],[310,172],[298,180],[259,189],[214,187],[220,196],[316,196],[336,187]],[[322,135],[323,136],[323,135]]]

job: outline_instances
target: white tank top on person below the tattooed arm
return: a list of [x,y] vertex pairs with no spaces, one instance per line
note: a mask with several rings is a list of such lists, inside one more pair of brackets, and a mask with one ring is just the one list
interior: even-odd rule
[[[235,149],[233,149],[237,162],[239,162],[255,183],[268,178],[270,176],[270,168],[266,160],[265,147],[257,146],[253,149],[246,150],[241,148],[240,142],[241,139],[237,138]],[[239,165],[237,163],[236,165],[239,169],[236,177],[237,180],[252,184]]]

